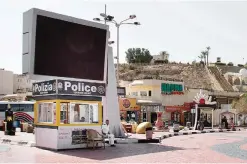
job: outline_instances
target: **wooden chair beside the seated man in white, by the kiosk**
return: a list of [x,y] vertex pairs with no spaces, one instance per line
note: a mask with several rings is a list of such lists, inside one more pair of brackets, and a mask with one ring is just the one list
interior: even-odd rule
[[89,144],[92,143],[92,148],[95,149],[98,143],[103,144],[103,148],[105,149],[105,136],[97,132],[93,129],[87,129],[87,148]]

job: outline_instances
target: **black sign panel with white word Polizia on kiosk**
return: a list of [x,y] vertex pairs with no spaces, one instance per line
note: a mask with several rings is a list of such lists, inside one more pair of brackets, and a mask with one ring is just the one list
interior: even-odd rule
[[33,83],[33,95],[50,95],[57,91],[56,80]]

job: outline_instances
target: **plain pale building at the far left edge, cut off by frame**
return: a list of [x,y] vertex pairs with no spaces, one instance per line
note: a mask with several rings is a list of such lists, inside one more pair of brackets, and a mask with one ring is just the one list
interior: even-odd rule
[[0,69],[0,96],[13,94],[13,72]]

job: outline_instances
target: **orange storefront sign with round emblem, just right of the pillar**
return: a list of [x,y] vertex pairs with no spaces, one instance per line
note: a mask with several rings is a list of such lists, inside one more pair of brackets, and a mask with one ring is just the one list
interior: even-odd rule
[[135,98],[119,98],[119,108],[121,111],[140,110],[140,106],[136,104]]

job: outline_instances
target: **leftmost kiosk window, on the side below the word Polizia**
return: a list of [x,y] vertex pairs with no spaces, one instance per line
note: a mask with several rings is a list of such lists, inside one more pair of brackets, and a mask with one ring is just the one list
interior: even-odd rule
[[53,123],[56,120],[56,103],[38,104],[38,122]]

